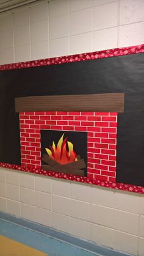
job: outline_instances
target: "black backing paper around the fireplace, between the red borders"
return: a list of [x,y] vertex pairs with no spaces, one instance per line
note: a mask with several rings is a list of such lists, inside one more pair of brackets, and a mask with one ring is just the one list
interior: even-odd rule
[[117,93],[117,182],[144,186],[144,54],[0,71],[0,162],[21,164],[15,97]]

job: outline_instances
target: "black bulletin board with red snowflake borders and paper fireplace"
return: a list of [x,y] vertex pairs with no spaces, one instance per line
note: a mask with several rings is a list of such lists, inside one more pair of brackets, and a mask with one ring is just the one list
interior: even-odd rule
[[143,52],[0,65],[0,166],[143,194]]

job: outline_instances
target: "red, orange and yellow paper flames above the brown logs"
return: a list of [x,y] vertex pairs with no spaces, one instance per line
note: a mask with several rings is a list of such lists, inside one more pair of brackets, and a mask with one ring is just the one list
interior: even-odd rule
[[[76,152],[73,150],[73,144],[70,141],[67,141],[67,137],[63,140],[64,133],[60,137],[57,147],[52,142],[52,146],[49,145],[49,148],[45,148],[49,157],[56,161],[59,164],[68,164],[74,161],[77,161]],[[68,145],[68,150],[67,146]]]

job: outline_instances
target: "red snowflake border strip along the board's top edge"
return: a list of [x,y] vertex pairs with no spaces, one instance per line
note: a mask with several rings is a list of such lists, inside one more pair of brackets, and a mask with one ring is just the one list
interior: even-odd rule
[[144,44],[137,46],[129,46],[124,48],[115,48],[107,49],[105,51],[95,51],[92,53],[81,53],[70,56],[55,57],[49,59],[41,60],[32,60],[27,62],[19,62],[13,64],[0,65],[0,70],[12,70],[17,68],[31,68],[31,67],[40,67],[46,65],[56,65],[69,62],[77,62],[82,60],[91,60],[91,59],[102,59],[107,57],[123,56],[128,54],[143,53]]

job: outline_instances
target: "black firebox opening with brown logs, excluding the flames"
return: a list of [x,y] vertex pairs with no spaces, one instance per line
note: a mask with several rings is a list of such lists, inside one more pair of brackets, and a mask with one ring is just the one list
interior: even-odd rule
[[[62,135],[63,141],[67,138],[67,141],[73,144],[77,161],[59,166],[59,163],[54,163],[49,158],[46,148],[51,150],[53,142],[57,146]],[[66,148],[68,151],[68,144],[66,144]],[[87,177],[87,132],[41,130],[41,167],[42,169]]]

